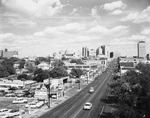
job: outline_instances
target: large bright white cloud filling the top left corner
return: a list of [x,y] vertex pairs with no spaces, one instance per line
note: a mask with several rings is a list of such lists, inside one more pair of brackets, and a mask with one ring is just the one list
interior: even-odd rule
[[59,0],[2,0],[1,3],[8,9],[32,17],[54,16],[63,8]]

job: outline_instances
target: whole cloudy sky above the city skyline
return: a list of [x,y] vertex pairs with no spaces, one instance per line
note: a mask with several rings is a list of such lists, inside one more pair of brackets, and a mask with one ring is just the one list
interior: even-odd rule
[[19,57],[101,45],[135,56],[141,40],[150,53],[150,0],[0,0],[0,50]]

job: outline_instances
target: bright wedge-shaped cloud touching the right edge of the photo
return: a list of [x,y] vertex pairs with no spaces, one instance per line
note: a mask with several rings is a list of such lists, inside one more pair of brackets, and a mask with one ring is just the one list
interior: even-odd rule
[[122,18],[121,21],[131,21],[133,23],[144,23],[150,22],[150,6],[144,9],[141,12],[133,12],[127,15],[126,17]]

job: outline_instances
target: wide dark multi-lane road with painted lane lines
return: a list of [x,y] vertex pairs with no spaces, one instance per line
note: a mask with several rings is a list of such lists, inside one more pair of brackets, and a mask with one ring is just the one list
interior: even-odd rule
[[[105,104],[100,101],[108,94],[107,82],[112,78],[110,69],[102,73],[99,79],[94,80],[72,98],[48,111],[40,118],[97,118],[105,109]],[[90,87],[95,92],[89,93]],[[89,101],[93,104],[91,110],[83,110],[84,104]]]

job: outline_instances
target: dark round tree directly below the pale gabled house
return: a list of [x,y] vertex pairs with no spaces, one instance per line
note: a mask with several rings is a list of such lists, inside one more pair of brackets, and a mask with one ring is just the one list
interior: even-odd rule
[[49,72],[47,70],[42,70],[40,68],[34,72],[33,80],[35,80],[37,82],[43,82],[44,79],[47,79],[47,78],[49,78]]

